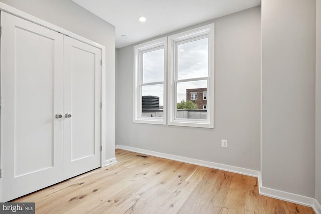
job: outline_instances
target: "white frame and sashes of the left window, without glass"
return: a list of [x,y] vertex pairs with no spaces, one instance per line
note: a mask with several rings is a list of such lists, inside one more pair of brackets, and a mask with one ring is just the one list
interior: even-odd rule
[[[143,84],[143,75],[142,75],[142,54],[146,51],[157,50],[164,48],[164,79],[161,82],[152,82]],[[134,46],[134,123],[149,123],[149,124],[166,124],[167,113],[167,37],[163,37],[160,39],[152,40],[140,45]],[[163,84],[163,117],[143,117],[141,116],[142,112],[142,96],[141,96],[141,88],[145,85],[155,85],[155,84]]]

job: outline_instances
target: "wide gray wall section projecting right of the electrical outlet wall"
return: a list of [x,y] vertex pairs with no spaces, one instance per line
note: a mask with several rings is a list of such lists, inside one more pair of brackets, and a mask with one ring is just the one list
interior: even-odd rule
[[315,0],[263,0],[262,181],[315,196]]

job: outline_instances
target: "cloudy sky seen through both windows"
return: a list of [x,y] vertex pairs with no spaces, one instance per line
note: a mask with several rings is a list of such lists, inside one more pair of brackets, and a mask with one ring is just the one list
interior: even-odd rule
[[[164,71],[164,49],[144,53],[143,83],[162,82]],[[186,101],[186,89],[207,88],[207,80],[184,81],[185,79],[207,77],[208,38],[178,45],[177,102]],[[142,96],[158,96],[163,106],[163,84],[142,86]]]

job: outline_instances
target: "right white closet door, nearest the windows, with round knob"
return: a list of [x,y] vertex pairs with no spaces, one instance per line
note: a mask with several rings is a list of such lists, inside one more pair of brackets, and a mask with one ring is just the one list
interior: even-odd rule
[[64,180],[100,167],[100,61],[100,49],[64,36]]

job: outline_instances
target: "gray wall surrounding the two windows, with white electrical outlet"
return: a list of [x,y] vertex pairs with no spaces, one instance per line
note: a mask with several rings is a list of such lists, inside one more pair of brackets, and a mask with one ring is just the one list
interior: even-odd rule
[[214,129],[133,123],[133,46],[128,46],[118,50],[116,144],[260,169],[260,7],[214,22]]

